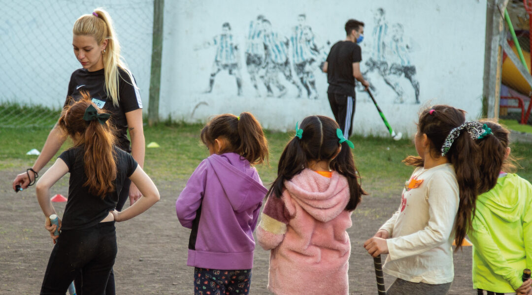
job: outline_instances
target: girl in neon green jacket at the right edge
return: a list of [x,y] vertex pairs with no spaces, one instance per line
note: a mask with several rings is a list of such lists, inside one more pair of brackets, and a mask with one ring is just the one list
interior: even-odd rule
[[[483,154],[472,231],[473,288],[497,293],[532,294],[532,280],[523,282],[523,268],[532,268],[532,185],[514,173],[508,161],[509,131],[484,122]],[[504,171],[504,172],[503,172]]]

